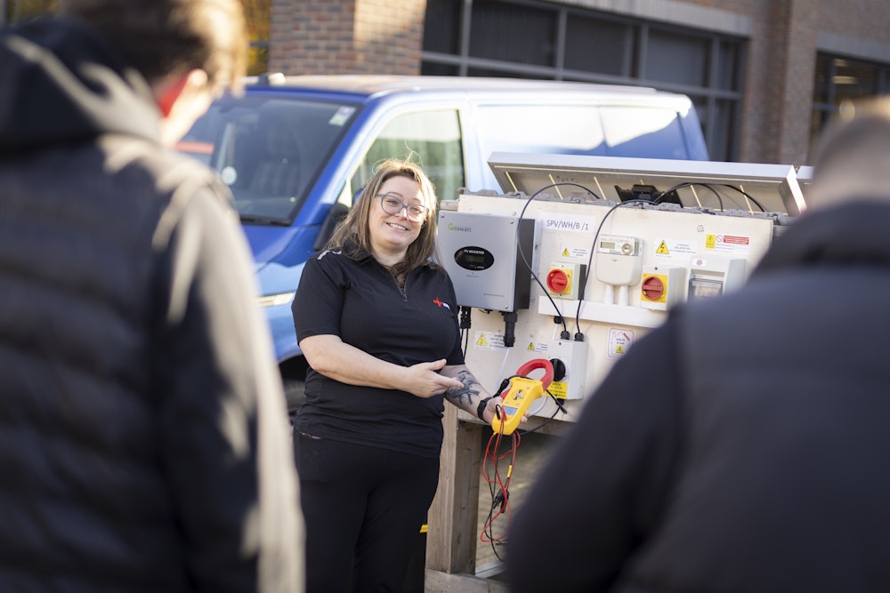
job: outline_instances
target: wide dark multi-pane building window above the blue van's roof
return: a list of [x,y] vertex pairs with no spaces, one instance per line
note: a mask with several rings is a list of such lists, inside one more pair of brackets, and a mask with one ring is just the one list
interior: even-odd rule
[[635,84],[688,95],[736,160],[745,41],[536,0],[427,0],[421,73]]

